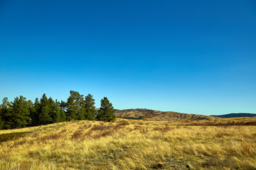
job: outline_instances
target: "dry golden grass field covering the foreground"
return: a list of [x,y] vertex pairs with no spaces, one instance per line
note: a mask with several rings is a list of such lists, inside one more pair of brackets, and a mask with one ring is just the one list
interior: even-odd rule
[[[218,122],[216,122],[218,121]],[[255,118],[0,130],[0,169],[256,169]]]

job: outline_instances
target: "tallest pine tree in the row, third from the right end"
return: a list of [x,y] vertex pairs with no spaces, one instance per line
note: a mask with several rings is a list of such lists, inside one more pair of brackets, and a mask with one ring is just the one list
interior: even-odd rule
[[70,91],[68,101],[65,103],[67,120],[85,120],[85,109],[82,107],[84,103],[83,95],[78,91]]

